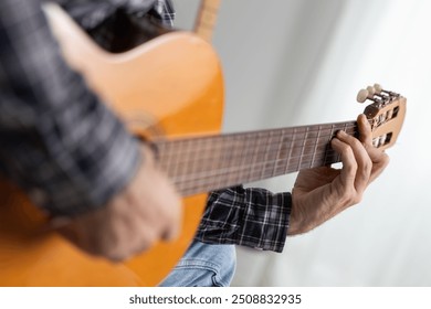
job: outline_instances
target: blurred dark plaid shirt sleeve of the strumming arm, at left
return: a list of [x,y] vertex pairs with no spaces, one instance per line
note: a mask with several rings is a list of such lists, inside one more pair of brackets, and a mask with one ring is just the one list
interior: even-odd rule
[[0,171],[53,215],[105,204],[141,161],[129,135],[62,60],[40,1],[0,1]]

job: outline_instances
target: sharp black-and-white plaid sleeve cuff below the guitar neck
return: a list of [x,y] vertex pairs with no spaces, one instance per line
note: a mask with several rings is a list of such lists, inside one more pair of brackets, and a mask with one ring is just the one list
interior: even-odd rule
[[292,210],[291,193],[242,185],[212,192],[196,238],[282,252]]

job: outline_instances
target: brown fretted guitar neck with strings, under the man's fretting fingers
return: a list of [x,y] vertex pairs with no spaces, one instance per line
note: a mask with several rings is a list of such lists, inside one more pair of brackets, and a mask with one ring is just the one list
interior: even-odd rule
[[357,136],[357,124],[156,140],[155,145],[161,168],[187,196],[339,162],[329,147],[338,130]]

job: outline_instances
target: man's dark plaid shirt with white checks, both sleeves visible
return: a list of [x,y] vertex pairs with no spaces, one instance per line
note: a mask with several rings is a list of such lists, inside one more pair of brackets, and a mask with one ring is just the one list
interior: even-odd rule
[[[169,0],[57,2],[87,31],[119,9],[165,25],[175,15]],[[0,1],[0,172],[52,215],[105,204],[143,159],[124,125],[64,63],[38,0]],[[288,193],[213,192],[197,238],[281,252],[290,205]]]

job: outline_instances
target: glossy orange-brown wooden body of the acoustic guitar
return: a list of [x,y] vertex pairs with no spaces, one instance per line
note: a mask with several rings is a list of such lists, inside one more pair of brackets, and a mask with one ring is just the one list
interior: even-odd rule
[[[108,54],[56,7],[49,15],[67,62],[137,135],[219,132],[223,108],[220,64],[203,40],[182,32],[133,51]],[[124,263],[76,249],[48,231],[46,216],[13,184],[0,180],[0,286],[155,286],[176,265],[199,224],[206,194],[183,201],[183,231]]]

